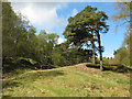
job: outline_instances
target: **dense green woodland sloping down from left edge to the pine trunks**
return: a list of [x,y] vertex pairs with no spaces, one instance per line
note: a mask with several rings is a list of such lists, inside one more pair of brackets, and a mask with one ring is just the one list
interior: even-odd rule
[[[91,61],[92,51],[57,44],[56,33],[36,29],[20,14],[14,13],[10,2],[2,3],[2,58],[32,58],[45,65],[73,65]],[[4,65],[3,65],[4,66]]]

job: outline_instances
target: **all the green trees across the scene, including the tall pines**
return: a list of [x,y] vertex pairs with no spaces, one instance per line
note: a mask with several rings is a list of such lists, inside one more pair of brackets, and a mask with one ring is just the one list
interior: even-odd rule
[[[113,14],[112,20],[125,20],[131,15],[130,7],[129,2],[117,3],[116,8],[120,11]],[[96,11],[97,8],[87,6],[77,15],[70,16],[63,33],[67,41],[58,44],[57,33],[46,33],[45,30],[41,30],[36,35],[36,29],[30,25],[21,13],[16,14],[10,2],[2,2],[3,72],[9,68],[6,65],[8,62],[20,58],[30,63],[34,62],[36,65],[58,67],[78,63],[100,63],[100,67],[110,64],[130,66],[130,29],[128,28],[122,46],[114,51],[114,58],[102,57],[105,47],[100,44],[100,33],[109,31],[109,25],[106,23],[109,16],[103,11]],[[128,24],[130,21],[127,21]]]

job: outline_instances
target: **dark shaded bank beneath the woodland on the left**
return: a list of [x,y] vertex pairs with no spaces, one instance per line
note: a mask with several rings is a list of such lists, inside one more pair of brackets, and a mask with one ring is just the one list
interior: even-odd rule
[[26,59],[6,58],[2,61],[3,74],[11,73],[11,74],[18,75],[18,74],[24,72],[23,69],[36,70],[36,69],[52,69],[52,68],[56,68],[56,67],[52,66],[52,65],[45,65],[43,63],[33,64]]

